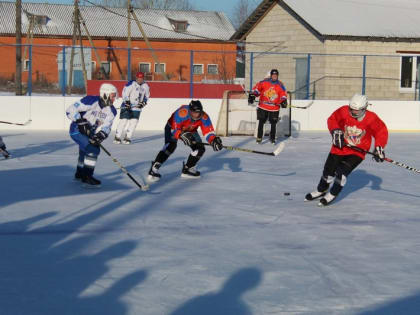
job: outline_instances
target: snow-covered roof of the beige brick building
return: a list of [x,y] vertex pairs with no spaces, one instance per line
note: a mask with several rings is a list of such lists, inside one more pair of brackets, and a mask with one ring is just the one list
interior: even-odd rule
[[274,3],[324,38],[420,38],[419,0],[264,0],[232,38],[243,37]]

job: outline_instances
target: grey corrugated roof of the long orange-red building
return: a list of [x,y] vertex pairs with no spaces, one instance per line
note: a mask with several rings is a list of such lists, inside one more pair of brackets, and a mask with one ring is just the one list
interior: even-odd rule
[[[64,4],[22,3],[22,9],[35,15],[46,15],[51,20],[35,29],[35,35],[71,36],[74,7]],[[127,37],[127,9],[109,8],[116,14],[98,6],[80,6],[89,33],[93,37]],[[15,2],[0,2],[1,34],[15,34]],[[173,40],[228,40],[235,32],[229,19],[222,12],[135,9],[135,14],[149,39]],[[168,20],[187,20],[185,32],[175,32]],[[22,31],[26,33],[29,20],[22,16]],[[82,29],[82,33],[85,32]],[[131,27],[133,38],[142,38],[135,21]]]

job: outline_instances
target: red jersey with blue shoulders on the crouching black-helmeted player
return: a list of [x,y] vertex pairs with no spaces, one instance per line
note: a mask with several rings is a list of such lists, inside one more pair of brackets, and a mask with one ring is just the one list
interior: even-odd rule
[[201,118],[197,120],[192,119],[188,105],[182,105],[174,111],[168,120],[168,124],[172,129],[172,137],[177,140],[181,133],[196,132],[198,127],[201,128],[201,132],[206,137],[207,142],[211,143],[216,137],[210,117],[203,112]]

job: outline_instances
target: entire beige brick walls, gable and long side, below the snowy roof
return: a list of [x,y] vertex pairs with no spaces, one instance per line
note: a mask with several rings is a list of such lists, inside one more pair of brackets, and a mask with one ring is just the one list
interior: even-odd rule
[[362,55],[382,55],[368,56],[366,59],[365,92],[369,98],[414,100],[415,97],[414,91],[400,89],[401,58],[397,51],[420,52],[420,43],[349,40],[323,42],[279,4],[275,4],[249,31],[246,50],[247,89],[251,78],[250,52],[254,52],[252,83],[264,78],[270,69],[278,68],[280,80],[289,91],[296,88],[296,59],[307,58],[310,53],[310,82],[315,82],[311,84],[310,93],[316,99],[348,99],[356,92],[361,93]]

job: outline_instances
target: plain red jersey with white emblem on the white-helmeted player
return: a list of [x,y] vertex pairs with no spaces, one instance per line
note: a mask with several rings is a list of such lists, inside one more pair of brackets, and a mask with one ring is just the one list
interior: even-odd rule
[[[328,129],[330,132],[334,129],[341,129],[344,132],[344,140],[346,143],[359,147],[364,150],[369,150],[372,137],[375,139],[375,147],[385,147],[388,142],[388,128],[385,123],[374,112],[366,110],[365,116],[361,121],[353,118],[350,115],[348,105],[341,106],[328,118]],[[342,149],[332,146],[332,154],[337,155],[357,155],[362,159],[365,158],[365,153],[352,150],[348,147]]]

